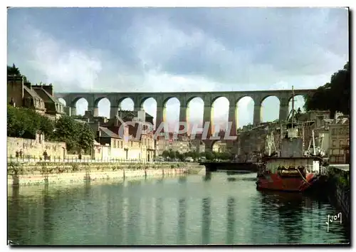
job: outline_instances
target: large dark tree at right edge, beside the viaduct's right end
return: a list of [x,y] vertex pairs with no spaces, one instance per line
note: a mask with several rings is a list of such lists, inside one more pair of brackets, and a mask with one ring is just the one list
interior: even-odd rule
[[330,110],[331,116],[336,111],[350,115],[350,75],[350,64],[347,62],[342,70],[331,76],[330,83],[319,87],[312,97],[304,97],[305,110]]

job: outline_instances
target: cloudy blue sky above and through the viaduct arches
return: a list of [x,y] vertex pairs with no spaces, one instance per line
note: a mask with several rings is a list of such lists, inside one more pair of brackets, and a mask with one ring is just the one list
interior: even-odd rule
[[[303,89],[328,83],[345,65],[348,41],[342,8],[12,8],[7,62],[55,92]],[[87,106],[79,100],[77,112]],[[238,106],[238,127],[251,123],[251,98]],[[267,98],[262,120],[276,120],[278,106]],[[169,123],[177,122],[178,100],[166,107]],[[214,122],[226,122],[228,107],[216,100]],[[155,100],[144,108],[155,117]],[[201,122],[203,108],[192,100],[189,122]],[[99,115],[109,113],[101,100]]]

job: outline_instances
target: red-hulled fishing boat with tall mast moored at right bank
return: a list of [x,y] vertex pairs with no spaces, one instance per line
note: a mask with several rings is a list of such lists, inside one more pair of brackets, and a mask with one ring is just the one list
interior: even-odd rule
[[280,127],[279,151],[273,132],[266,137],[265,155],[258,168],[257,189],[298,191],[311,189],[325,175],[321,146],[315,145],[315,135],[308,149],[304,149],[304,125],[295,118],[294,92],[292,88],[292,110],[286,123],[286,133]]

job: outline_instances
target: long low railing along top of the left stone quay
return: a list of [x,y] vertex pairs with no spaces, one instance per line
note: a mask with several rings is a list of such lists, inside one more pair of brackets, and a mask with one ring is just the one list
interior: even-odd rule
[[[104,159],[91,159],[90,157],[83,157],[81,159],[69,157],[69,158],[40,158],[40,157],[7,157],[8,163],[22,162],[22,163],[38,163],[38,162],[79,162],[79,163],[168,163],[168,161],[152,160],[147,161],[146,159],[117,159],[117,158],[104,158]],[[177,162],[177,161],[174,161]]]

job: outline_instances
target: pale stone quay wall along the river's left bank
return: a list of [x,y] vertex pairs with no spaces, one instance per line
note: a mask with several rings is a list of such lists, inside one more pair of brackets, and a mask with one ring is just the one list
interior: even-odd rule
[[130,177],[167,177],[198,174],[199,164],[187,163],[9,163],[8,185],[57,184],[68,182],[125,179]]

